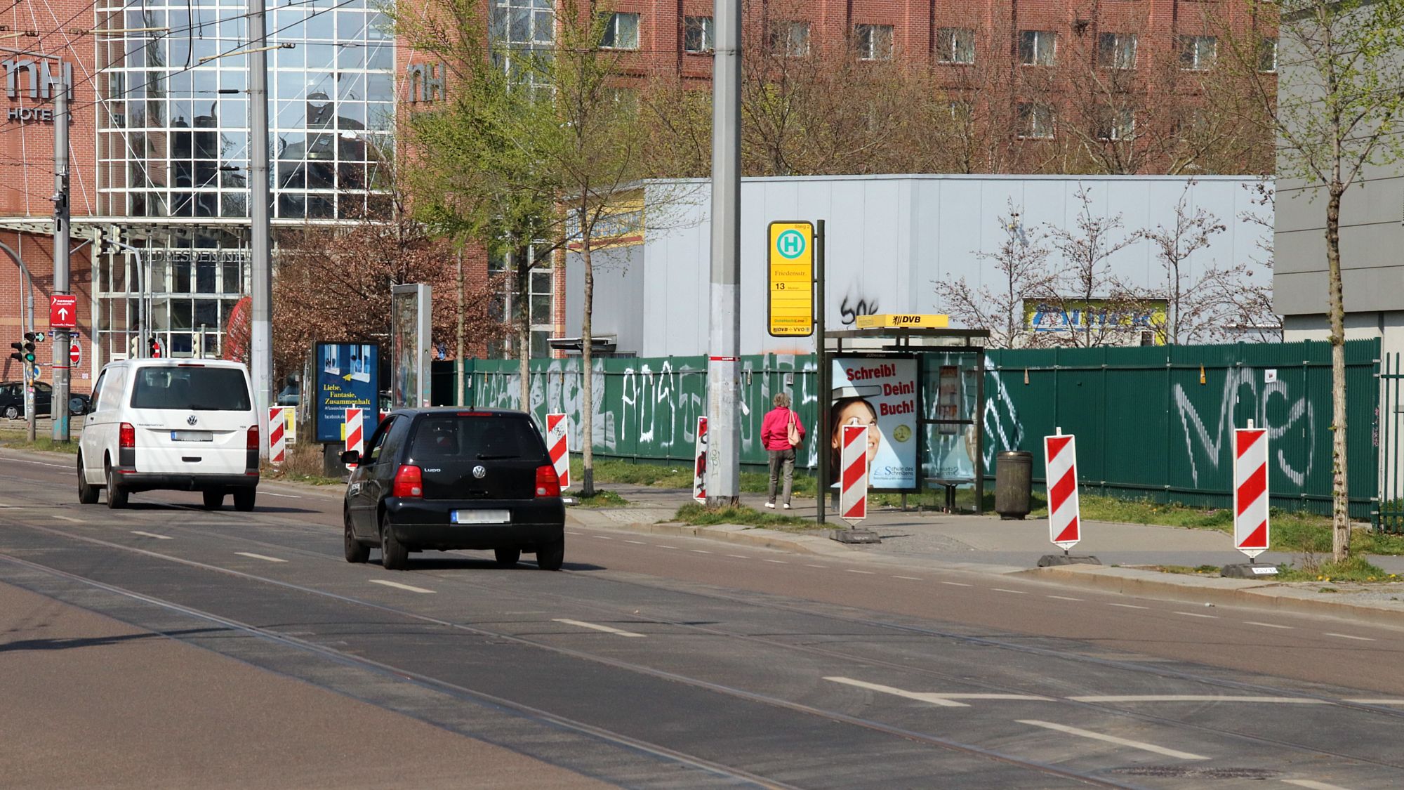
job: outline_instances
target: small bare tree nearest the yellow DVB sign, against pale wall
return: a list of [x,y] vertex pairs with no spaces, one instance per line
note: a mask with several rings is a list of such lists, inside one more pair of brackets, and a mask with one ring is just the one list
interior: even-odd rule
[[988,277],[979,288],[972,288],[965,277],[955,283],[936,283],[942,309],[958,323],[972,329],[990,330],[990,347],[1016,349],[1036,344],[1036,335],[1025,328],[1024,304],[1052,295],[1054,281],[1047,268],[1049,249],[1043,235],[1026,231],[1019,215],[1022,207],[1008,202],[1000,216],[1004,239],[995,252],[974,250],[979,260],[988,261]]

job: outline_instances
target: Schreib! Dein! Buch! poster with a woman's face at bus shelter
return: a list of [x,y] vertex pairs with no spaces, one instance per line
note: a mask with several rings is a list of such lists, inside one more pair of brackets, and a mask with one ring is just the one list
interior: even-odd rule
[[[917,360],[834,357],[830,475],[840,468],[842,426],[868,426],[868,485],[917,489]],[[833,482],[833,481],[831,481]]]

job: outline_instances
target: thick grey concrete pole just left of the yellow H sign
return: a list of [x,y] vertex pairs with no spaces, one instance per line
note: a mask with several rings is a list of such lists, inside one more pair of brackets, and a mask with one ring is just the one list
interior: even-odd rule
[[706,503],[717,507],[741,493],[741,0],[715,7]]

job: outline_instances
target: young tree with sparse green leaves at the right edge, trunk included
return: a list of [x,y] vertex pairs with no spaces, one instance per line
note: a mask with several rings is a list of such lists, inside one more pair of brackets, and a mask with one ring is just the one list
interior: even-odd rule
[[[1252,117],[1266,118],[1278,139],[1278,177],[1304,181],[1306,200],[1325,198],[1331,514],[1341,561],[1351,550],[1341,198],[1370,170],[1404,157],[1404,0],[1254,0],[1250,11],[1259,25],[1250,34],[1224,28],[1220,63],[1266,110]],[[1257,32],[1271,28],[1276,39]]]

